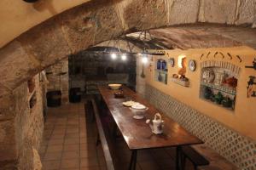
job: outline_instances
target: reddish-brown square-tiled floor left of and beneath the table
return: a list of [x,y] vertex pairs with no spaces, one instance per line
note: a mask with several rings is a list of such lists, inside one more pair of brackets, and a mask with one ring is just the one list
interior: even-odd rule
[[[86,121],[84,104],[49,108],[40,155],[44,170],[104,170],[102,146],[96,146],[96,124]],[[123,139],[114,144],[117,169],[127,169],[131,158]],[[137,170],[175,169],[175,149],[140,150]],[[188,165],[186,169],[191,169]]]

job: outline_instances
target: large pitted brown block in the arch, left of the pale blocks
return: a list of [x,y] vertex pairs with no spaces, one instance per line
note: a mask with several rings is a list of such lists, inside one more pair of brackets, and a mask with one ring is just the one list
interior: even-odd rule
[[122,30],[118,15],[108,3],[87,3],[61,14],[58,20],[73,53],[116,37]]

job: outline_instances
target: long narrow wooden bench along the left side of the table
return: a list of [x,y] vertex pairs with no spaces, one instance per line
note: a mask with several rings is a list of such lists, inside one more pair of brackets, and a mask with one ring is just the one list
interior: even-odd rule
[[105,157],[105,161],[106,161],[106,165],[107,165],[107,169],[108,170],[114,170],[114,165],[113,165],[113,159],[110,153],[110,148],[108,145],[108,141],[107,141],[107,137],[104,133],[104,129],[102,126],[102,121],[101,121],[101,117],[96,105],[96,101],[94,99],[90,99],[88,100],[89,105],[92,105],[92,109],[93,109],[93,113],[94,113],[94,117],[96,120],[96,127],[98,129],[98,134],[97,134],[97,140],[96,140],[96,144],[102,144],[102,150],[103,150],[103,154]]

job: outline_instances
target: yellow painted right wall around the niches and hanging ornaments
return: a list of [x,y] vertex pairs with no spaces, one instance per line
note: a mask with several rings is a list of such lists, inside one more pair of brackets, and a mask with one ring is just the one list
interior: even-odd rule
[[[200,80],[201,80],[201,61],[214,59],[213,54],[218,51],[223,54],[230,53],[233,56],[236,54],[241,56],[242,62],[239,63],[236,57],[232,60],[226,57],[221,59],[221,56],[217,55],[216,60],[228,61],[234,65],[241,67],[240,77],[238,79],[237,94],[236,94],[236,108],[235,111],[229,111],[221,106],[214,105],[206,100],[200,99]],[[167,54],[175,59],[175,66],[171,67],[168,64],[168,82],[167,85],[162,82],[154,81],[154,66],[157,59],[167,59],[167,56],[154,56],[154,61],[152,62],[152,71],[147,69],[146,82],[152,85],[154,88],[158,88],[160,91],[171,95],[175,99],[189,105],[201,113],[212,117],[216,121],[224,124],[226,127],[230,127],[242,135],[245,135],[251,139],[256,140],[256,98],[247,98],[247,81],[248,76],[255,76],[256,71],[253,69],[246,69],[245,65],[252,65],[252,61],[256,58],[256,51],[253,48],[239,47],[239,48],[207,48],[207,49],[189,49],[189,50],[167,50]],[[204,57],[200,60],[201,54],[207,54],[209,58]],[[187,61],[189,59],[195,59],[196,70],[189,71],[187,68],[186,77],[189,78],[190,86],[189,88],[180,86],[175,82],[170,81],[172,74],[177,74],[177,56],[184,54],[187,56]],[[255,88],[254,88],[255,89]]]

